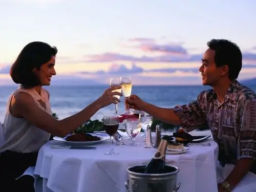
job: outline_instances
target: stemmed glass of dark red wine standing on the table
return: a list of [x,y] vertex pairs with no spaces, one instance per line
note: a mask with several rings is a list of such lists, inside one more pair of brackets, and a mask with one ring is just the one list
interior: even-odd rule
[[119,126],[119,117],[116,115],[104,116],[103,117],[104,130],[110,136],[111,150],[106,152],[105,155],[118,155],[119,152],[114,151],[113,147],[113,136],[116,133]]

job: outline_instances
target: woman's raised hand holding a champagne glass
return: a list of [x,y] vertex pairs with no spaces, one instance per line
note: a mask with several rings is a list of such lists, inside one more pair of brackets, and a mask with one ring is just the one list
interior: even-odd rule
[[114,95],[122,96],[122,93],[112,92],[117,89],[121,89],[121,86],[113,86],[109,89],[106,89],[105,92],[97,99],[97,103],[101,108],[104,108],[105,106],[108,106],[112,103],[116,104],[117,102],[120,102],[120,100],[114,97]]

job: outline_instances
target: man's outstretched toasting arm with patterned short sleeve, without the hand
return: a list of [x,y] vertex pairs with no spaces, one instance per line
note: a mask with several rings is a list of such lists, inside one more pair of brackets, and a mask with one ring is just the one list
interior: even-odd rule
[[205,92],[200,93],[197,100],[177,105],[174,109],[159,108],[146,103],[142,110],[163,122],[182,125],[189,132],[206,124],[206,115],[201,109],[202,97],[205,97]]

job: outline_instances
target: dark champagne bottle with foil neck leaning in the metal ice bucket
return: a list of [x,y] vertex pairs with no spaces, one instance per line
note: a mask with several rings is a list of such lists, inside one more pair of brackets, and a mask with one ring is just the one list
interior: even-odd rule
[[162,174],[165,168],[165,153],[169,137],[163,136],[159,144],[158,150],[150,162],[147,163],[144,169],[145,174]]

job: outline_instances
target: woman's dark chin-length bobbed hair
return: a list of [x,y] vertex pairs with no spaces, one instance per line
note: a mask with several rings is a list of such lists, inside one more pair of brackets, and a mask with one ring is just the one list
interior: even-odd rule
[[30,42],[19,53],[11,67],[10,75],[12,80],[27,88],[38,86],[40,81],[33,69],[39,70],[41,65],[51,60],[52,56],[55,56],[57,52],[56,47],[51,47],[45,42]]

